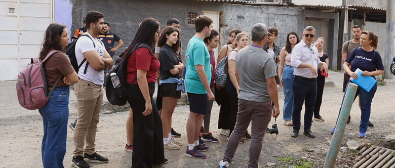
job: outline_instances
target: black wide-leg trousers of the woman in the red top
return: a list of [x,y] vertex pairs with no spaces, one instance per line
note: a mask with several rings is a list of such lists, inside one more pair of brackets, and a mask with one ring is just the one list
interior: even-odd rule
[[145,100],[138,85],[129,88],[128,102],[133,109],[133,156],[132,167],[152,167],[165,161],[163,148],[162,120],[157,112],[152,95],[154,83],[148,83],[152,113],[143,116]]

